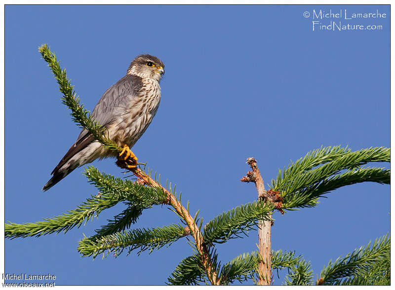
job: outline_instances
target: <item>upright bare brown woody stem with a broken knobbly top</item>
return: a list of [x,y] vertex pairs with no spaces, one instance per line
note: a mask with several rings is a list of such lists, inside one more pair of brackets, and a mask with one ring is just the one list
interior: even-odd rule
[[[248,165],[251,167],[252,172],[249,171],[247,176],[241,179],[242,182],[252,181],[255,183],[258,190],[258,199],[269,200],[269,195],[265,190],[265,184],[261,173],[253,157],[247,159]],[[270,216],[271,217],[271,216]],[[259,239],[259,285],[270,285],[272,282],[272,242],[271,242],[271,220],[260,220],[258,225],[258,239]]]

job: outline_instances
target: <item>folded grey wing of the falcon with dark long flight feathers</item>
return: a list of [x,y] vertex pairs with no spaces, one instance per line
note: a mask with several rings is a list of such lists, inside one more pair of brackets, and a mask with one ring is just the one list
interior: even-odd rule
[[[107,128],[117,116],[121,115],[127,109],[125,106],[131,106],[136,101],[138,91],[142,86],[140,77],[136,75],[125,75],[103,94],[93,109],[91,118]],[[70,158],[94,141],[94,138],[89,132],[82,129],[77,141],[70,147],[51,174],[57,172]]]

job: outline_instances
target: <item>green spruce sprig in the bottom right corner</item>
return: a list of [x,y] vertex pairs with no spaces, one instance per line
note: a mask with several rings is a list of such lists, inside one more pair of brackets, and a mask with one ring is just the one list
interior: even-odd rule
[[363,280],[363,277],[372,272],[377,265],[386,264],[390,249],[390,237],[387,234],[376,239],[371,247],[369,242],[366,247],[360,247],[345,257],[338,257],[335,262],[329,261],[322,269],[317,285],[341,285],[353,283],[358,279]]

